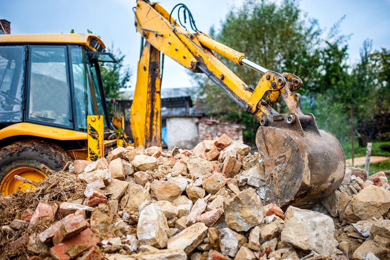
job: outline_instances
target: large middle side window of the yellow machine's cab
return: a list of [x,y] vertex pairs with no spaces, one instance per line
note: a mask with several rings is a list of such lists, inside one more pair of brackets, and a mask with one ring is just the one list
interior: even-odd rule
[[66,46],[30,46],[27,120],[73,128]]

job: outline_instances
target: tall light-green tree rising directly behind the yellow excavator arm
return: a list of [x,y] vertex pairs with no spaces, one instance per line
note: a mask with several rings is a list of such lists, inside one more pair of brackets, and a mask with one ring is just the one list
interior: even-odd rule
[[[259,0],[246,0],[232,9],[211,35],[219,42],[245,53],[249,60],[273,71],[303,75],[304,82],[317,77],[320,53],[316,50],[321,30],[316,20],[301,18],[298,1],[285,0],[280,6]],[[244,82],[256,86],[261,74],[232,61],[225,64]],[[249,114],[230,100],[211,80],[195,76],[203,96],[210,104],[210,115],[235,123],[244,123],[244,139],[254,142],[259,126]],[[282,110],[283,108],[280,108]]]

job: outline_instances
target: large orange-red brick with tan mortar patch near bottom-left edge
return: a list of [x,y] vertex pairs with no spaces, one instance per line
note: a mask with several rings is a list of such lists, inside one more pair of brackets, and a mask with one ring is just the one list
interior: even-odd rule
[[55,260],[75,259],[81,255],[82,252],[88,250],[99,242],[100,240],[94,232],[87,228],[77,236],[50,248],[50,255]]

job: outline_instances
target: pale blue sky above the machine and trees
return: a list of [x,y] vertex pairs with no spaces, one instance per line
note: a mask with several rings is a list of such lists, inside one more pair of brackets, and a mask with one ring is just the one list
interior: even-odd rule
[[[208,32],[212,25],[218,31],[229,10],[240,6],[243,0],[159,1],[169,13],[180,2],[191,10],[197,28]],[[324,36],[335,22],[346,16],[340,30],[342,34],[351,34],[348,41],[350,64],[359,60],[359,48],[366,39],[373,41],[374,50],[390,48],[390,0],[301,0],[298,3],[309,18],[318,20],[320,28],[325,30]],[[11,22],[12,34],[91,30],[107,47],[113,46],[126,55],[124,63],[132,70],[134,89],[140,49],[140,35],[134,27],[132,10],[135,4],[135,0],[1,0],[0,19]],[[162,88],[194,86],[187,70],[168,58],[163,75]]]

